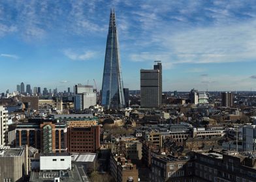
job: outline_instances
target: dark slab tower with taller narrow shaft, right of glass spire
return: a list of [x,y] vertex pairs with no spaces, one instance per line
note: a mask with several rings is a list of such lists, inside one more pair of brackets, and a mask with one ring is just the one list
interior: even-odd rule
[[153,70],[140,70],[140,107],[159,108],[162,104],[161,62]]

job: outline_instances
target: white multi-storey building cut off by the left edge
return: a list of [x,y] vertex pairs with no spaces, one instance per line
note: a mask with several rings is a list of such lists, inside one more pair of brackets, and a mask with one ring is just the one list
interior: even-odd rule
[[0,146],[5,146],[8,136],[8,111],[0,105]]

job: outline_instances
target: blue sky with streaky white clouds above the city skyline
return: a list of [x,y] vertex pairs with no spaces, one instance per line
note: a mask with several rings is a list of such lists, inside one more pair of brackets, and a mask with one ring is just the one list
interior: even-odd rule
[[[25,2],[25,3],[24,3]],[[163,62],[163,90],[256,90],[256,1],[1,1],[0,92],[101,89],[110,8],[123,83]]]

